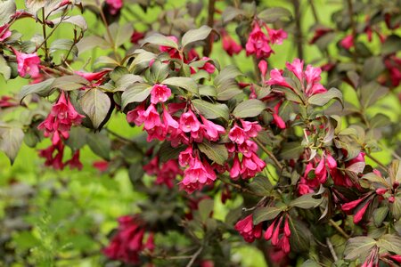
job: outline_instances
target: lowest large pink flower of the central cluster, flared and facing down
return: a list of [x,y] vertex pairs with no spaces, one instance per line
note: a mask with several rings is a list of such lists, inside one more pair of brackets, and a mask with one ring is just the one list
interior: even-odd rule
[[194,190],[201,190],[204,185],[212,184],[216,180],[216,173],[206,160],[196,157],[192,164],[185,169],[184,179],[180,182],[180,189],[191,194]]

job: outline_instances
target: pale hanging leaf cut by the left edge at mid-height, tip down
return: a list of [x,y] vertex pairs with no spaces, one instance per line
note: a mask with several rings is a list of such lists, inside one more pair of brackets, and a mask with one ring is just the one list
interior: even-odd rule
[[10,158],[11,164],[14,163],[23,140],[22,129],[12,125],[0,125],[0,150],[3,150],[5,155]]

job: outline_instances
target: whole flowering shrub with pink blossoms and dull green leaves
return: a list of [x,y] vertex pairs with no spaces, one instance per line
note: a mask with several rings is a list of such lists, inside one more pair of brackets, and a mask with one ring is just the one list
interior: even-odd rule
[[[81,170],[88,146],[99,173],[127,171],[146,198],[115,218],[102,264],[237,266],[252,243],[272,266],[397,266],[397,1],[348,0],[325,26],[309,1],[311,46],[298,0],[294,12],[233,2],[210,0],[205,17],[201,2],[1,1],[0,73],[29,84],[0,100],[0,149],[12,163],[25,142],[45,166]],[[160,13],[139,29],[141,8]],[[41,32],[21,34],[20,20]],[[278,65],[286,43],[298,55]],[[321,62],[304,56],[315,46]],[[116,133],[119,117],[142,134]]]

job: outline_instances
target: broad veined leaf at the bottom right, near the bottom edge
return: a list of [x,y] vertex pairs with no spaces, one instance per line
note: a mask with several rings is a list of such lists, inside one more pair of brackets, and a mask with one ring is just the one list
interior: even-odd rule
[[369,237],[356,237],[348,239],[344,255],[346,260],[364,260],[376,245],[376,240]]

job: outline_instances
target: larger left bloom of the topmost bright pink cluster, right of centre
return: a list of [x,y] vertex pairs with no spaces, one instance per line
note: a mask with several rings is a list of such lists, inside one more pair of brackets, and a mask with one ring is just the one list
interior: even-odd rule
[[250,37],[245,45],[247,55],[256,54],[258,59],[268,58],[273,53],[269,45],[269,40],[265,33],[259,28],[258,23],[254,23],[253,29],[250,32]]

